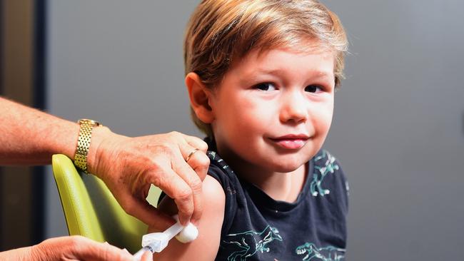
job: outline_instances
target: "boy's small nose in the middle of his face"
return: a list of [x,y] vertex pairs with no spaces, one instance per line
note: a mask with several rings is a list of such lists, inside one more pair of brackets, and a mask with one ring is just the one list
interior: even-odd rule
[[308,119],[308,101],[302,93],[288,93],[283,97],[280,118],[283,123],[300,123]]

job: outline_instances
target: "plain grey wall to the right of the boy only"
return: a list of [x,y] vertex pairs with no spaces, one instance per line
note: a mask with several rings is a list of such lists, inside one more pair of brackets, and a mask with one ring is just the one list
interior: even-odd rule
[[352,53],[326,143],[350,180],[350,259],[462,259],[464,2],[328,5]]

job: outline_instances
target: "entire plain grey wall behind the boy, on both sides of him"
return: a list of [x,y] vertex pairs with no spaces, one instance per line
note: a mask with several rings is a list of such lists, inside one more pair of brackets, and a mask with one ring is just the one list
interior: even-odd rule
[[[49,1],[51,113],[199,135],[181,39],[198,1]],[[350,40],[326,147],[350,181],[349,260],[464,255],[464,2],[323,1]],[[64,235],[49,180],[49,236]]]

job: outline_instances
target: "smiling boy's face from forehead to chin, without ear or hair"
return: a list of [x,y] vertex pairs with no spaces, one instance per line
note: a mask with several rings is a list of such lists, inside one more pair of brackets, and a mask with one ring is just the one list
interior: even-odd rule
[[331,51],[249,53],[210,97],[218,152],[241,167],[290,172],[321,148],[331,126]]

